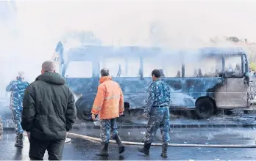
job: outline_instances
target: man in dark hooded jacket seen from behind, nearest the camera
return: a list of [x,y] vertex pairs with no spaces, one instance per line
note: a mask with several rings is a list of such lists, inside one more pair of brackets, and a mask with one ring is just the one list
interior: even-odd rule
[[52,61],[42,64],[42,74],[26,89],[21,126],[29,135],[30,160],[62,160],[67,132],[76,119],[74,95]]

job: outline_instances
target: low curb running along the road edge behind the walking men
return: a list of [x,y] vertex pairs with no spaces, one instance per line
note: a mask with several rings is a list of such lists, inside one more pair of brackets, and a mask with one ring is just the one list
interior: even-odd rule
[[[86,129],[100,129],[99,125],[74,125],[73,129],[79,130],[85,127]],[[227,123],[227,124],[171,124],[171,128],[202,128],[202,127],[256,127],[256,123]],[[146,125],[121,125],[118,129],[142,129],[146,128]],[[4,130],[15,130],[14,127],[4,127]]]

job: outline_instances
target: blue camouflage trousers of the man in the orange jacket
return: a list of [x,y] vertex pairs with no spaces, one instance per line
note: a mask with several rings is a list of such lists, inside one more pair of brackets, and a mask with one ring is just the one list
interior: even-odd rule
[[118,135],[116,119],[102,119],[100,120],[102,142],[108,143],[111,138],[115,138]]

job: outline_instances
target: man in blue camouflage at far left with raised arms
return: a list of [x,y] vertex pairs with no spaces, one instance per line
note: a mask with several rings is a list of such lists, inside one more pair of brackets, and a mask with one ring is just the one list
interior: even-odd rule
[[24,97],[24,91],[29,83],[24,81],[24,72],[18,72],[18,76],[15,81],[11,81],[6,87],[6,91],[11,91],[10,108],[13,111],[13,122],[15,124],[15,146],[23,146],[23,130],[21,127],[21,113],[22,113],[22,101]]

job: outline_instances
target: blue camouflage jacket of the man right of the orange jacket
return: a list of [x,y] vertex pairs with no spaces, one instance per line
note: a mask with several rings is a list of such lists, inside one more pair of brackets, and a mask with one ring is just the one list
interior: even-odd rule
[[149,97],[144,113],[149,115],[154,106],[169,106],[171,103],[170,87],[163,81],[157,80],[149,86]]

